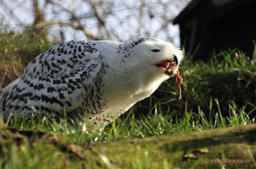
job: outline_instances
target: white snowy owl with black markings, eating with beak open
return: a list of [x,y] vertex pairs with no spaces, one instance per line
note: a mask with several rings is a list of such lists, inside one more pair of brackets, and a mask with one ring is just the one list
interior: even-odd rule
[[82,115],[105,126],[179,73],[183,53],[156,38],[67,41],[39,54],[0,91],[0,115]]

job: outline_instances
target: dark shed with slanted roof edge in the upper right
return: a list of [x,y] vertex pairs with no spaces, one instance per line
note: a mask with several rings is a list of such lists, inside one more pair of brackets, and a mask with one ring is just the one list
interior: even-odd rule
[[174,19],[181,45],[195,59],[207,60],[221,50],[239,48],[252,56],[256,41],[255,0],[192,0]]

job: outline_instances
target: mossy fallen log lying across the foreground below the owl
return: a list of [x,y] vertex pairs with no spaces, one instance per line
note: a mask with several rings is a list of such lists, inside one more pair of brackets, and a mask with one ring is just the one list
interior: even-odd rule
[[3,144],[41,142],[86,168],[256,168],[256,124],[89,145],[0,125],[0,150]]

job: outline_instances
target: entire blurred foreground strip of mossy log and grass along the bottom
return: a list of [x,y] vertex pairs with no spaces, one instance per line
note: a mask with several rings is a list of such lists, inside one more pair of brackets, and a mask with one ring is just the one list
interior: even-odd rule
[[[4,153],[0,165],[6,168],[255,168],[255,132],[256,124],[253,124],[79,145],[57,133],[19,131],[0,125]],[[247,162],[216,162],[237,159]]]

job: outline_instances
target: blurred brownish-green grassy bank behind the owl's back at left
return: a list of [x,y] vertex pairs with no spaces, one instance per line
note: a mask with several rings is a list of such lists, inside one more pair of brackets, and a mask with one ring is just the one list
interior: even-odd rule
[[23,68],[38,54],[55,44],[47,34],[34,36],[30,28],[23,32],[0,23],[0,89],[18,78]]

